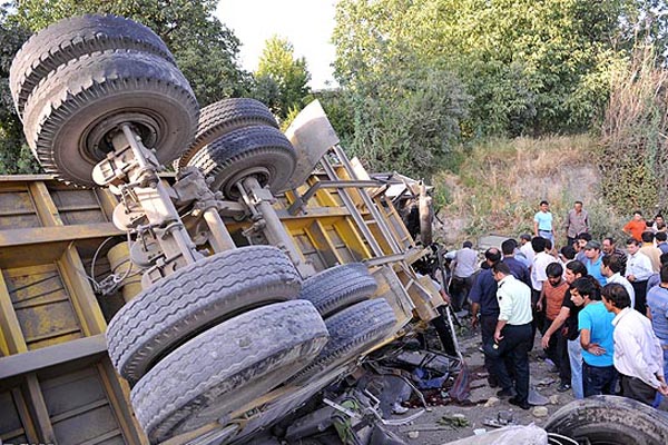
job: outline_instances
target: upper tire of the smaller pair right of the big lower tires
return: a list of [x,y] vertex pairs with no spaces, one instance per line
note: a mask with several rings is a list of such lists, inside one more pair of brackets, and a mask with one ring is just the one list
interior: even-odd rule
[[313,303],[324,318],[369,299],[377,287],[365,265],[351,263],[332,267],[306,279],[298,298]]

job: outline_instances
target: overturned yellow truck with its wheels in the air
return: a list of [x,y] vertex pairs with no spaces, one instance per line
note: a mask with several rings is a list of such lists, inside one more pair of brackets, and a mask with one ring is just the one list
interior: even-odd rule
[[432,250],[317,102],[285,135],[252,99],[200,110],[111,16],[33,36],[10,87],[49,175],[0,178],[2,443],[298,442],[336,416],[399,442],[364,358],[454,333],[412,267]]

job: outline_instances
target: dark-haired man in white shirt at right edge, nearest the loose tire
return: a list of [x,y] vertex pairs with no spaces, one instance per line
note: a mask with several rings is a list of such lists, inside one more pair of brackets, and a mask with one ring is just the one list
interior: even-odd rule
[[621,394],[651,406],[657,390],[668,395],[661,344],[649,319],[631,309],[631,299],[623,286],[607,285],[601,297],[606,309],[615,314],[613,362],[621,377]]

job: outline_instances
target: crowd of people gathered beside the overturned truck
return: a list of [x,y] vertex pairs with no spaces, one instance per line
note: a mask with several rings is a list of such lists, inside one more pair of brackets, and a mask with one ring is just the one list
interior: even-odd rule
[[664,218],[636,211],[622,230],[623,247],[592,239],[583,205],[563,224],[556,248],[547,201],[533,234],[478,256],[470,241],[454,260],[452,305],[480,327],[490,386],[530,407],[529,352],[540,333],[544,356],[559,374],[559,392],[574,398],[615,394],[658,406],[668,396],[668,243]]

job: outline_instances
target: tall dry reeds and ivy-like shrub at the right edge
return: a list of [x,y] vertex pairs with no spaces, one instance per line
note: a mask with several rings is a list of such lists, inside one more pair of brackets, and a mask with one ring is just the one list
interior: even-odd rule
[[668,208],[668,71],[651,47],[639,48],[612,83],[598,165],[602,191],[617,208]]

